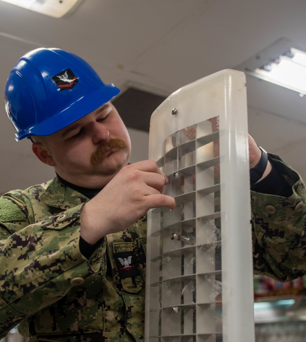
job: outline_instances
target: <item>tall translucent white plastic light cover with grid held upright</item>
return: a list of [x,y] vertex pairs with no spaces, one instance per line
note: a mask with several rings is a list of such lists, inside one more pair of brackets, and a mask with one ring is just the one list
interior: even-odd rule
[[176,208],[148,213],[146,342],[254,342],[245,74],[223,70],[152,114],[149,158]]

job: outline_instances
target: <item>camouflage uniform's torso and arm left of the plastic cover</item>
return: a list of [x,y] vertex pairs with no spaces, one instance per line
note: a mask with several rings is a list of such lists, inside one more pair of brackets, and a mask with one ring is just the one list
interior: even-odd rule
[[[19,324],[33,342],[143,340],[146,217],[87,260],[79,250],[87,201],[57,177],[1,197],[0,338]],[[117,252],[135,255],[139,275],[120,279]],[[73,286],[75,278],[84,282]]]

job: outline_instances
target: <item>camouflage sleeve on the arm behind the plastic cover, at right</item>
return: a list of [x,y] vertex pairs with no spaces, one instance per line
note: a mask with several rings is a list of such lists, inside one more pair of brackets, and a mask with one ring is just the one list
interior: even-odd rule
[[292,195],[251,191],[254,272],[289,281],[306,274],[305,184],[279,156],[270,158]]

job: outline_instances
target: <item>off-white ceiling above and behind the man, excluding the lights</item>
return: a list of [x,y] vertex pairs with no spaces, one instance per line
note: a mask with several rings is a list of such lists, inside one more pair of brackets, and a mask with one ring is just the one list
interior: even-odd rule
[[[105,82],[158,95],[235,68],[280,38],[306,49],[305,0],[83,0],[60,19],[0,1],[0,93],[25,52],[58,47],[87,60]],[[249,130],[306,179],[306,96],[247,76]],[[0,193],[53,177],[29,141],[16,143],[0,108]],[[131,130],[132,140],[146,139]],[[139,144],[142,145],[142,144]],[[145,158],[147,144],[132,161]]]

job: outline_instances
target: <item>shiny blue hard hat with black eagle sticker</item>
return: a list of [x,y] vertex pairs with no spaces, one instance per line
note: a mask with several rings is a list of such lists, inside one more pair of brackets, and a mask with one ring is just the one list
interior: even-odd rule
[[120,90],[104,84],[93,68],[61,49],[35,49],[11,70],[5,110],[19,141],[50,135],[99,108]]

